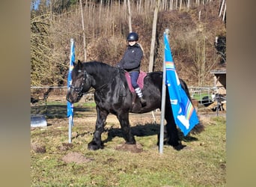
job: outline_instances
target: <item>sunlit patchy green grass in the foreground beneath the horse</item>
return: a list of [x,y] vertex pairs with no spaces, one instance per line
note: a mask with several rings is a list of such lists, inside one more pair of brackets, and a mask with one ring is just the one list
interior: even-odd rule
[[[60,150],[67,143],[65,123],[34,129],[31,143],[46,146],[46,153],[31,151],[31,186],[226,186],[225,117],[211,117],[205,126],[204,132],[183,141],[187,149],[164,146],[163,154],[156,147],[156,135],[135,136],[141,153],[116,150],[124,143],[118,136],[103,150],[91,151],[88,132],[94,131],[94,124],[77,122],[73,132],[79,136],[73,138],[73,147]],[[61,158],[70,152],[82,153],[91,162],[65,163]]]

